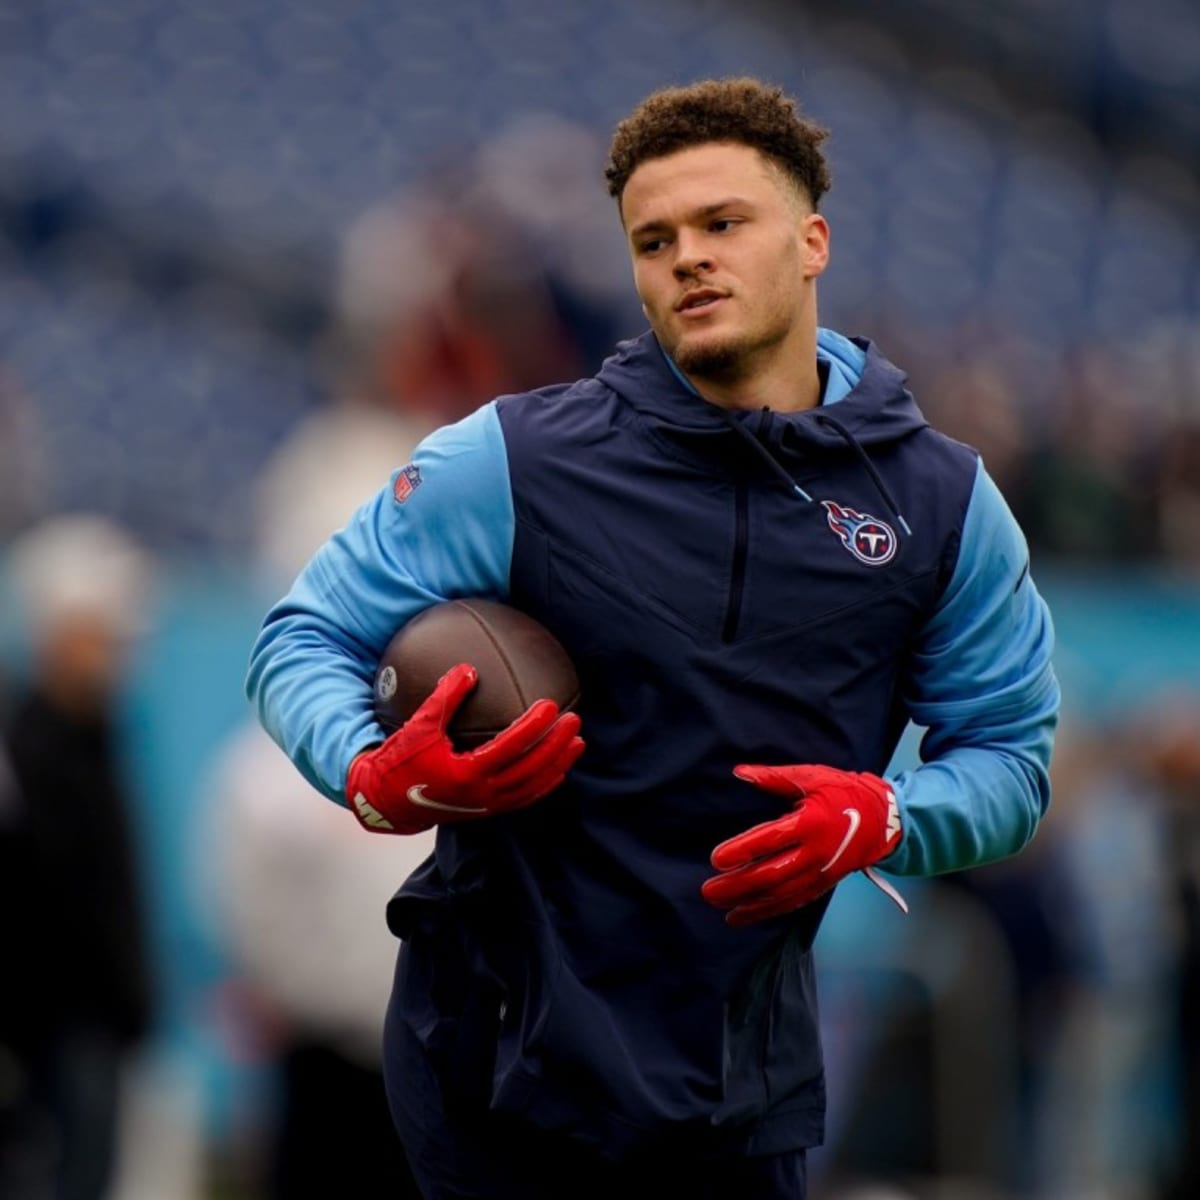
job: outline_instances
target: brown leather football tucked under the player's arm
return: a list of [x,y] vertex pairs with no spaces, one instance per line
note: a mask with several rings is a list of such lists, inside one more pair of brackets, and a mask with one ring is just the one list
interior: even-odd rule
[[534,701],[553,700],[566,712],[580,698],[575,666],[542,624],[494,600],[448,600],[403,625],[379,659],[374,708],[384,730],[403,725],[458,662],[479,672],[450,722],[458,750],[482,745]]

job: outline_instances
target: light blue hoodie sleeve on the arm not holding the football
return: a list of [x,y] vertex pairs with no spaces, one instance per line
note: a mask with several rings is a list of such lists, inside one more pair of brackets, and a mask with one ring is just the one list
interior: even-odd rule
[[913,658],[905,698],[926,730],[922,766],[893,781],[904,838],[882,868],[962,870],[1033,836],[1050,803],[1052,650],[1025,538],[980,463],[954,576]]

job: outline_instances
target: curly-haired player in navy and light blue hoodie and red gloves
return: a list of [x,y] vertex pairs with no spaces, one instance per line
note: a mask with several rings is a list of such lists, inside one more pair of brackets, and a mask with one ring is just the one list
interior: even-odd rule
[[[431,1198],[641,1195],[650,1170],[803,1196],[833,887],[1014,853],[1049,800],[1024,539],[901,372],[817,325],[823,138],[749,79],[638,106],[607,176],[650,331],[430,437],[254,647],[250,695],[318,788],[440,824],[388,913],[389,1093]],[[384,740],[379,653],[461,595],[563,641],[577,715],[456,755],[464,666]],[[923,766],[884,780],[908,720]]]

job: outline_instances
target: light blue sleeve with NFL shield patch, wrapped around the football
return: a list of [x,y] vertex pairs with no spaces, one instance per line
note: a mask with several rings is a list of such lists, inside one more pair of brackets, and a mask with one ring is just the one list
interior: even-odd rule
[[430,434],[403,469],[404,498],[397,470],[270,610],[250,656],[246,695],[264,728],[341,804],[354,756],[384,738],[372,685],[392,634],[440,600],[509,589],[512,493],[494,403]]

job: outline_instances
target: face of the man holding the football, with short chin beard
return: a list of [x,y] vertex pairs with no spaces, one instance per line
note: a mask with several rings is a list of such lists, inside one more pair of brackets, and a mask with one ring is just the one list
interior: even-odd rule
[[757,150],[715,142],[642,163],[622,220],[650,328],[688,374],[750,378],[815,336],[829,230]]

